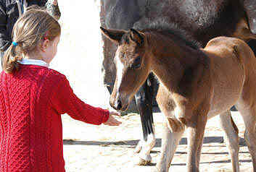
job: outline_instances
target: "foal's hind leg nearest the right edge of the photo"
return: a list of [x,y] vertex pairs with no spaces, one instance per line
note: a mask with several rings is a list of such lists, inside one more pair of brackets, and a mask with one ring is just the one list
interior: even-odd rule
[[256,172],[256,106],[237,106],[237,108],[244,119],[244,139],[247,142],[249,153],[252,155],[253,171]]

